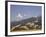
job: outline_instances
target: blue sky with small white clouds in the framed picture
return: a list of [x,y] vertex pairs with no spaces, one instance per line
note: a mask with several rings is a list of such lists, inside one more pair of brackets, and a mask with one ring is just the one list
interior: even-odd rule
[[11,21],[20,21],[35,16],[41,16],[41,10],[41,6],[11,5],[10,19]]

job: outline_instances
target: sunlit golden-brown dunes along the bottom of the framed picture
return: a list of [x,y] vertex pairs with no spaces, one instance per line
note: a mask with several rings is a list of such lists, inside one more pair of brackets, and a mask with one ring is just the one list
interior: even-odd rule
[[28,30],[33,30],[33,29],[36,29],[36,30],[40,30],[41,29],[41,26],[39,26],[38,24],[34,24],[34,23],[26,23],[25,25],[17,25],[17,26],[14,26],[11,31],[28,31]]

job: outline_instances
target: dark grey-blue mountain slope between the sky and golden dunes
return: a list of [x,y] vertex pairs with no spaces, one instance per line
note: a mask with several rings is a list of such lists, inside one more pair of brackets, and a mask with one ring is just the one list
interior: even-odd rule
[[19,25],[19,24],[25,25],[25,23],[27,23],[27,22],[35,22],[35,21],[38,21],[41,24],[41,21],[42,21],[41,16],[31,17],[31,18],[28,18],[28,19],[24,19],[22,21],[11,22],[11,27]]

